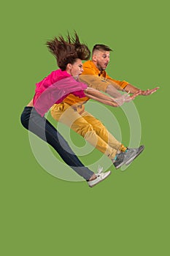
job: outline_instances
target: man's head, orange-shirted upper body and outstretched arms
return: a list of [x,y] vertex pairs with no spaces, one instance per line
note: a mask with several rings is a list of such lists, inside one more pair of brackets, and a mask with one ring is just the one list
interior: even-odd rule
[[126,91],[128,94],[132,94],[131,97],[125,99],[126,102],[134,99],[138,95],[147,96],[158,90],[158,87],[156,87],[142,91],[125,80],[120,81],[109,77],[105,69],[107,69],[109,64],[110,51],[112,49],[107,45],[94,45],[92,60],[85,61],[83,64],[84,71],[80,75],[82,82],[87,83],[89,87],[104,91],[112,97],[119,97],[120,94],[118,91]]

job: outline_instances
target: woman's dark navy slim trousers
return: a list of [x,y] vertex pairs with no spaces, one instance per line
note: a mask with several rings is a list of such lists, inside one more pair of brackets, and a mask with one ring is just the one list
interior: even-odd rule
[[61,134],[50,124],[45,117],[39,115],[32,107],[26,107],[21,114],[20,121],[23,127],[33,132],[42,140],[45,140],[50,146],[53,146],[55,151],[61,156],[67,165],[72,167],[86,181],[93,176],[93,172],[82,165],[80,159],[74,154],[69,144],[64,140]]

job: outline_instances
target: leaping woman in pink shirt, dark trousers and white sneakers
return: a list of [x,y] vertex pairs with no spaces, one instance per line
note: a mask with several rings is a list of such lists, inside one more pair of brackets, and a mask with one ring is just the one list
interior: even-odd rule
[[[77,69],[81,70],[81,60],[87,60],[90,57],[90,50],[87,45],[80,43],[76,33],[74,38],[71,38],[68,34],[67,40],[64,40],[63,37],[55,37],[55,40],[58,42],[58,45],[55,45],[55,50],[58,52],[60,60],[63,59],[68,67],[70,67],[70,64],[76,63]],[[49,43],[47,42],[47,44]],[[61,66],[60,62],[58,66]],[[54,102],[62,102],[66,95],[71,92],[77,97],[85,97],[83,90],[87,86],[77,82],[72,78],[73,75],[74,69],[67,73],[61,68],[53,71],[47,78],[37,83],[34,99],[31,99],[31,102],[24,108],[20,120],[23,127],[45,140],[50,146],[53,146],[63,161],[85,178],[89,187],[93,187],[107,178],[111,172],[103,173],[102,168],[99,167],[98,173],[95,174],[88,167],[82,165],[82,162],[74,154],[66,140],[44,116]],[[64,80],[63,77],[65,78]]]

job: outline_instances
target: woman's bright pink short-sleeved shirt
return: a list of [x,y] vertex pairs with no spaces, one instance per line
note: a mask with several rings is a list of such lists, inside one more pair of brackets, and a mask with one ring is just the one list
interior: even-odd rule
[[69,94],[85,97],[84,91],[88,86],[75,80],[68,72],[61,69],[55,70],[36,83],[34,94],[34,108],[41,115],[50,109],[53,104],[61,103]]

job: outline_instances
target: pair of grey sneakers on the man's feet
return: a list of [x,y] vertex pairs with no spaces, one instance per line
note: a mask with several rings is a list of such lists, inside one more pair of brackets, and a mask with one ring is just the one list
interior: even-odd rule
[[139,146],[139,148],[128,148],[125,152],[120,152],[120,154],[116,155],[117,159],[115,159],[113,165],[115,165],[116,169],[120,168],[122,165],[129,165],[142,153],[143,150],[144,146]]

